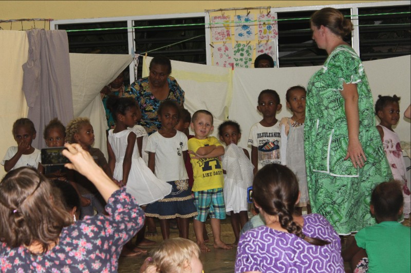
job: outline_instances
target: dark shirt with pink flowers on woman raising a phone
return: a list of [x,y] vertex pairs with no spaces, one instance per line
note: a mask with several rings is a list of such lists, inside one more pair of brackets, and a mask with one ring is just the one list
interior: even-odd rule
[[117,272],[123,245],[143,226],[144,213],[136,200],[116,191],[98,214],[63,228],[60,242],[43,255],[24,246],[0,243],[1,272]]

